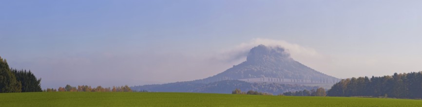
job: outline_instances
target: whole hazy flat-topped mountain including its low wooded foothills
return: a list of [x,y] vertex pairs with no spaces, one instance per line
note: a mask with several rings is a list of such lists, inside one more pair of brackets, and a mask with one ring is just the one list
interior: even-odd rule
[[131,87],[162,92],[230,93],[239,88],[273,94],[303,89],[329,88],[339,79],[315,71],[290,57],[281,47],[259,45],[249,51],[245,62],[214,76],[162,85]]

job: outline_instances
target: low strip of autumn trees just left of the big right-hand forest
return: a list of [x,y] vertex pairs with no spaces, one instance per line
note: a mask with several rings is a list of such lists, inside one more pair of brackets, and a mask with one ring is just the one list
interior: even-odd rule
[[318,88],[318,89],[311,89],[310,91],[307,89],[304,89],[302,91],[294,91],[294,92],[284,92],[283,94],[279,95],[285,95],[285,96],[326,96],[326,90],[324,88]]

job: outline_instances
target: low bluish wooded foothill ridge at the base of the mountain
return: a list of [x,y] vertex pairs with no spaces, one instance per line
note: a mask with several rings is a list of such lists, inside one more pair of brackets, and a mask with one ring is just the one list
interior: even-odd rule
[[317,89],[318,87],[289,85],[278,83],[249,83],[239,80],[223,80],[208,84],[193,82],[176,82],[162,85],[144,85],[135,86],[133,90],[152,90],[158,92],[201,92],[201,93],[231,93],[234,89],[257,90],[260,92],[269,92],[280,94],[287,91],[297,91],[303,89]]

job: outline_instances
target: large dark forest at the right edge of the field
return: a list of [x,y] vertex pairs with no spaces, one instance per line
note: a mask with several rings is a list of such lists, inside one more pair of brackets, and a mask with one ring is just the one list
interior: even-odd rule
[[422,72],[394,73],[380,77],[343,79],[328,90],[328,96],[422,98]]

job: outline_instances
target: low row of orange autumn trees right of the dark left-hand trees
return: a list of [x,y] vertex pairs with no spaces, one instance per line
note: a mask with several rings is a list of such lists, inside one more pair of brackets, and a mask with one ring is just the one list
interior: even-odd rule
[[58,89],[44,89],[44,92],[64,92],[64,91],[69,91],[69,92],[132,92],[132,89],[128,86],[120,86],[120,87],[116,87],[113,86],[113,88],[103,88],[101,86],[97,86],[95,88],[92,88],[91,86],[77,86],[77,87],[72,87],[70,85],[66,85],[65,87],[58,87]]

